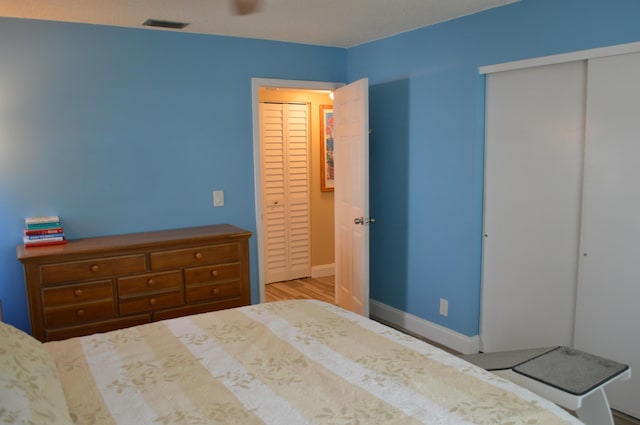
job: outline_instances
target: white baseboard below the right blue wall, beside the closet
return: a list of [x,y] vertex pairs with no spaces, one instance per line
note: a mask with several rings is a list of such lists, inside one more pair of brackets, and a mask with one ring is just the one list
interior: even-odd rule
[[369,300],[369,312],[401,329],[442,344],[462,354],[475,354],[480,349],[479,336],[466,336],[449,328],[421,319],[397,308]]

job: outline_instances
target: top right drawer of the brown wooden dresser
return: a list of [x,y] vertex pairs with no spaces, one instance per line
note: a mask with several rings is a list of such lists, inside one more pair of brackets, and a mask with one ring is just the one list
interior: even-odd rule
[[227,263],[240,257],[240,245],[237,243],[202,246],[173,251],[153,252],[150,256],[153,270],[175,267],[190,267],[199,264]]

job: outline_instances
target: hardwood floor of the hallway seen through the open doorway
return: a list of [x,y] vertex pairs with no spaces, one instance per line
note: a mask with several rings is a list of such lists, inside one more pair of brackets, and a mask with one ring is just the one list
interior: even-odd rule
[[267,302],[315,299],[335,304],[333,276],[304,278],[265,285]]

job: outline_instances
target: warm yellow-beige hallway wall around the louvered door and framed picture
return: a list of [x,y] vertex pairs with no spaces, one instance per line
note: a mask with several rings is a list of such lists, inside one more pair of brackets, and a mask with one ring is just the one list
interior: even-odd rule
[[333,264],[334,222],[333,192],[320,190],[320,105],[331,105],[329,93],[261,88],[260,102],[304,102],[311,105],[309,122],[311,125],[311,267]]

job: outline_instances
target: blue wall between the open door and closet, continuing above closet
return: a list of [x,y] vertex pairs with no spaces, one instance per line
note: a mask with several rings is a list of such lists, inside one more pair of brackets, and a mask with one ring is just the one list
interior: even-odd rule
[[[372,298],[478,334],[478,67],[640,41],[639,22],[637,0],[523,0],[349,49],[348,80],[371,85]],[[394,130],[403,123],[408,129]],[[449,300],[448,317],[439,315],[440,298]]]

